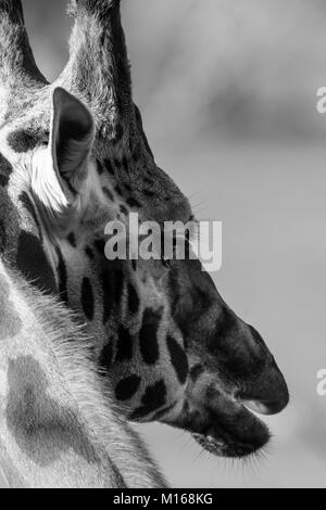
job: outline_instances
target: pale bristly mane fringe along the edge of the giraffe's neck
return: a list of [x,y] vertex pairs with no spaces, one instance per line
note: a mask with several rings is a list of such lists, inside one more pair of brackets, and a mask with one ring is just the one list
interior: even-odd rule
[[[2,264],[0,265],[0,267]],[[13,270],[5,268],[16,290],[47,336],[46,349],[58,361],[66,390],[73,396],[78,417],[91,433],[99,449],[118,469],[129,487],[152,488],[166,485],[147,447],[123,418],[90,359],[92,340],[84,332],[78,317],[53,296],[45,295]]]

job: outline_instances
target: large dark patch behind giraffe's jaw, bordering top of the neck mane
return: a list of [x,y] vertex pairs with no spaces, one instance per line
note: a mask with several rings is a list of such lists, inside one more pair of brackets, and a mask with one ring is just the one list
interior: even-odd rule
[[35,286],[47,294],[57,294],[52,267],[39,239],[22,230],[16,252],[17,269]]

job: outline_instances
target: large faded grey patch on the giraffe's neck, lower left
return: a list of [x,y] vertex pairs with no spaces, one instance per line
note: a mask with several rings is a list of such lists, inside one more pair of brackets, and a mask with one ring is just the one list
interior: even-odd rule
[[75,412],[50,396],[47,375],[37,360],[30,356],[10,360],[8,382],[8,430],[33,462],[51,466],[70,449],[89,463],[100,461]]

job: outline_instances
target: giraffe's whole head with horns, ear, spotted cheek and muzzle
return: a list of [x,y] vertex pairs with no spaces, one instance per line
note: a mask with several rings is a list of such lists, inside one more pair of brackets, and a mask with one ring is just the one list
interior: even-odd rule
[[260,334],[199,260],[104,255],[105,225],[131,211],[160,224],[192,218],[133,102],[120,2],[73,2],[71,60],[52,86],[35,65],[20,2],[0,7],[12,36],[1,41],[12,44],[0,131],[4,256],[79,315],[128,419],[183,428],[215,455],[255,451],[269,435],[250,409],[275,413],[288,403]]

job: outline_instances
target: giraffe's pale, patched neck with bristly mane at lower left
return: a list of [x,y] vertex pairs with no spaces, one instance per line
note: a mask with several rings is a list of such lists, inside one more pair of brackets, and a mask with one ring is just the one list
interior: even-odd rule
[[0,289],[0,458],[9,484],[163,486],[143,445],[104,403],[70,314],[2,262]]

